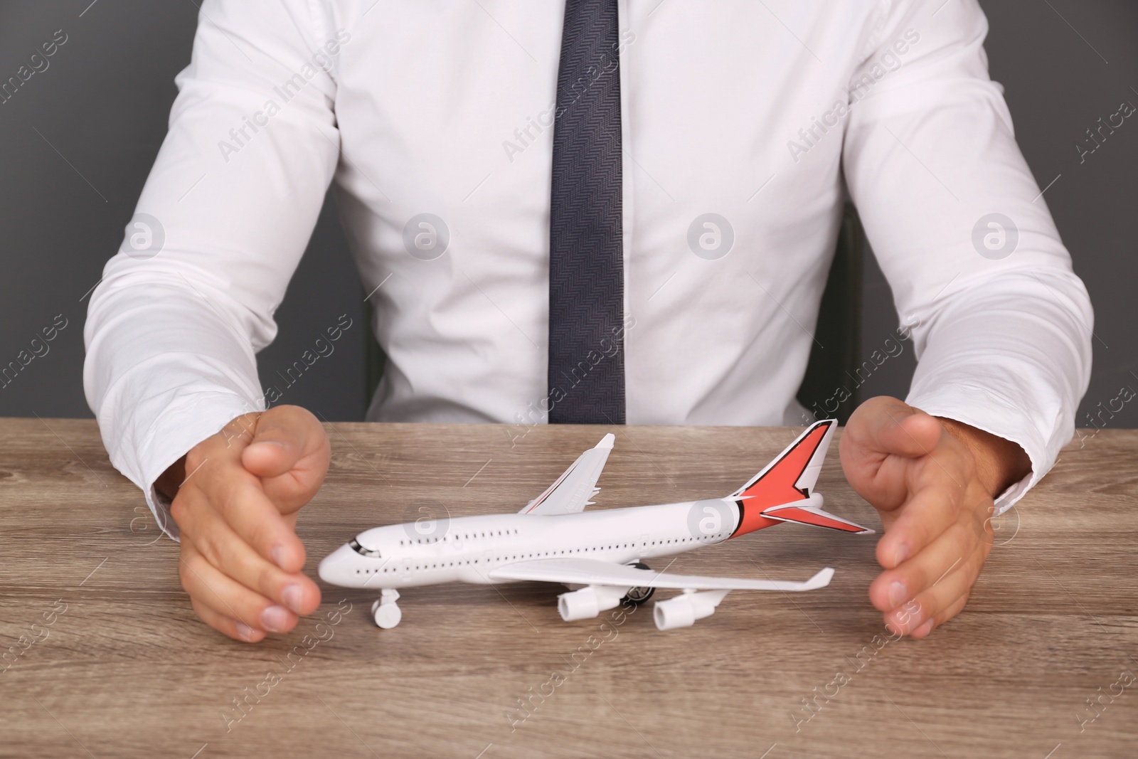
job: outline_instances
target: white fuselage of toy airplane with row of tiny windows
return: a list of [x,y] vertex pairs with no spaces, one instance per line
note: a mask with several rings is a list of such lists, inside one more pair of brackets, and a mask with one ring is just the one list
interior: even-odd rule
[[496,584],[496,567],[531,559],[588,558],[625,564],[670,556],[729,538],[735,500],[707,498],[571,514],[486,514],[377,527],[321,564],[336,585],[404,588]]

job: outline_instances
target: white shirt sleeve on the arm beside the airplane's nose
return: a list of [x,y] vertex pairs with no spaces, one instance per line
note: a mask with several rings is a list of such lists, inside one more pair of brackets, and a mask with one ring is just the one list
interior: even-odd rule
[[155,480],[264,409],[255,354],[275,336],[336,168],[345,38],[306,0],[201,3],[170,131],[91,294],[86,399],[112,463],[172,537]]

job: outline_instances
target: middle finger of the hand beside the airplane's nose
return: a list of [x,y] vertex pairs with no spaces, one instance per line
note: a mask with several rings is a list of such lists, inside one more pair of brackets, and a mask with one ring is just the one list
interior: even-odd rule
[[[195,525],[200,528],[199,520]],[[222,574],[262,596],[287,607],[296,614],[307,614],[320,605],[320,588],[300,574],[282,571],[265,560],[216,515],[208,529],[192,531],[193,548]]]

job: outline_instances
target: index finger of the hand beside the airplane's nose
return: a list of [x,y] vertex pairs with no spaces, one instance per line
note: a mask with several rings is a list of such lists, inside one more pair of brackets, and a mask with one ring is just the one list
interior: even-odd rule
[[[212,529],[212,514],[220,515],[229,527],[253,546],[254,551],[286,572],[297,572],[304,567],[304,544],[296,531],[281,515],[280,510],[261,488],[261,480],[247,472],[238,463],[220,462],[209,477],[201,478],[195,488],[184,493],[185,504],[175,513],[178,498],[171,504],[179,527],[188,522],[195,535],[205,535]],[[196,496],[203,496],[198,503]]]

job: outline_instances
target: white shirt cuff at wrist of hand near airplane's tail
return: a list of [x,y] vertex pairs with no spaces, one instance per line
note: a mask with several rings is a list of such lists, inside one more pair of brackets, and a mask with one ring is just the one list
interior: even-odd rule
[[1044,478],[1058,455],[1047,438],[1030,423],[1022,410],[990,390],[970,385],[953,385],[909,395],[907,404],[933,416],[945,416],[1017,444],[1031,460],[1031,472],[996,497],[993,517],[1022,498]]

